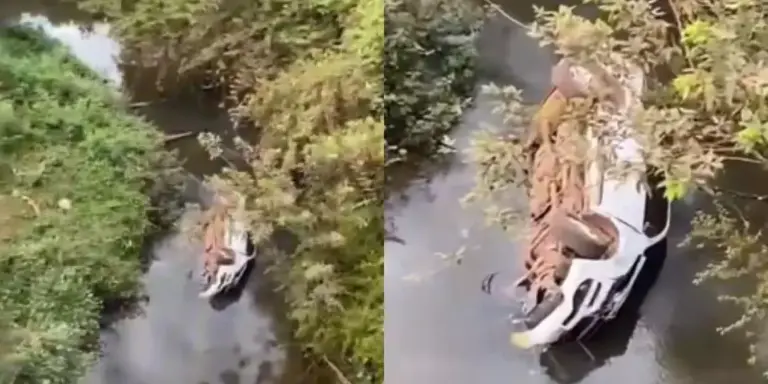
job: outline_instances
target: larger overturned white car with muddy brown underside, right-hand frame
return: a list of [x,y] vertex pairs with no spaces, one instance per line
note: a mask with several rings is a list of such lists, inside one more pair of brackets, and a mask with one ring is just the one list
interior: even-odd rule
[[[552,149],[558,145],[565,105],[591,94],[595,86],[605,87],[607,76],[613,95],[597,105],[604,125],[587,128],[582,137],[592,150],[607,149],[611,156],[565,169],[566,163],[557,159],[563,152]],[[670,204],[662,191],[644,188],[654,183],[647,182],[651,172],[632,126],[644,87],[642,71],[626,64],[587,69],[562,61],[553,71],[553,83],[541,107],[550,115],[534,120],[540,125],[534,129],[544,133],[539,132],[529,173],[532,225],[526,273],[515,283],[530,299],[515,322],[521,329],[511,335],[521,348],[566,336],[582,339],[613,319],[632,291],[647,251],[666,238],[670,224]],[[606,165],[621,162],[632,165],[628,172],[607,172]]]

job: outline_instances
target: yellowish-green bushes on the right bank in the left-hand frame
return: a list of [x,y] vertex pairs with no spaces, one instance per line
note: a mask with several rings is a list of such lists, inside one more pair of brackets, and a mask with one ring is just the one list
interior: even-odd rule
[[[220,91],[247,167],[209,180],[245,197],[270,249],[306,355],[337,381],[383,380],[383,1],[85,0],[106,15],[128,65],[158,69],[163,90]],[[132,64],[131,64],[132,63]],[[222,145],[204,136],[213,153]],[[263,260],[263,259],[262,259]]]

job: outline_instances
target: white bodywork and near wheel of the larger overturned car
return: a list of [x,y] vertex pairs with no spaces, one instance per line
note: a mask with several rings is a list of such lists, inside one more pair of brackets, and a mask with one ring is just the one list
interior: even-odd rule
[[[561,249],[569,250],[570,265],[557,293],[535,300],[517,322],[522,329],[512,333],[511,342],[520,348],[546,346],[566,336],[578,340],[613,319],[646,262],[646,252],[666,238],[670,204],[659,190],[654,188],[649,194],[643,188],[649,172],[640,144],[633,138],[631,111],[640,103],[644,75],[639,68],[624,67],[616,72],[622,75],[615,76],[624,102],[619,108],[599,108],[598,113],[607,114],[607,126],[600,130],[599,139],[592,131],[587,132],[587,138],[593,148],[612,150],[612,161],[640,166],[633,167],[635,171],[628,175],[612,177],[592,162],[584,178],[588,189],[584,192],[589,196],[585,211],[579,215],[550,214],[556,215],[549,220],[551,234]],[[575,65],[568,71],[571,85],[583,90],[596,76]],[[654,222],[654,204],[659,202],[665,212],[656,214],[661,220]],[[517,284],[524,287],[522,279]]]

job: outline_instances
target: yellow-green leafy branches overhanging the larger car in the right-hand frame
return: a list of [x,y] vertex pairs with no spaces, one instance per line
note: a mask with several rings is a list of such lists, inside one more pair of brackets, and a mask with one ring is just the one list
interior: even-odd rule
[[[585,3],[602,12],[600,19],[577,16],[572,7],[536,9],[531,36],[580,64],[614,63],[618,53],[649,74],[644,108],[635,120],[646,163],[663,177],[668,199],[698,193],[710,196],[718,206],[714,212],[698,214],[688,240],[721,254],[697,282],[757,277],[753,291],[721,298],[738,305],[743,314],[721,331],[765,318],[768,251],[760,245],[766,240],[758,228],[762,223],[750,222],[726,206],[733,198],[759,202],[767,198],[723,190],[715,182],[735,164],[768,165],[768,8],[760,0]],[[500,96],[500,110],[509,120],[517,124],[526,120],[527,108],[518,90],[489,89]],[[574,109],[567,123],[599,129],[592,112]],[[524,178],[524,143],[499,136],[485,132],[476,138],[479,182],[472,197],[494,200],[499,191],[514,188]],[[603,154],[584,155],[587,158],[580,160]],[[505,226],[515,216],[507,208],[491,215]]]

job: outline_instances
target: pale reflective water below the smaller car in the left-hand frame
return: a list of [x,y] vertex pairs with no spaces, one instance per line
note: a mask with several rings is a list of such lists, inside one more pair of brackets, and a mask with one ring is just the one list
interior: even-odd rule
[[254,279],[243,300],[212,309],[198,299],[190,278],[200,248],[183,235],[155,245],[143,316],[117,321],[102,333],[104,355],[87,383],[216,383],[219,376],[225,383],[255,383],[282,370],[285,350],[257,296],[263,284]]

